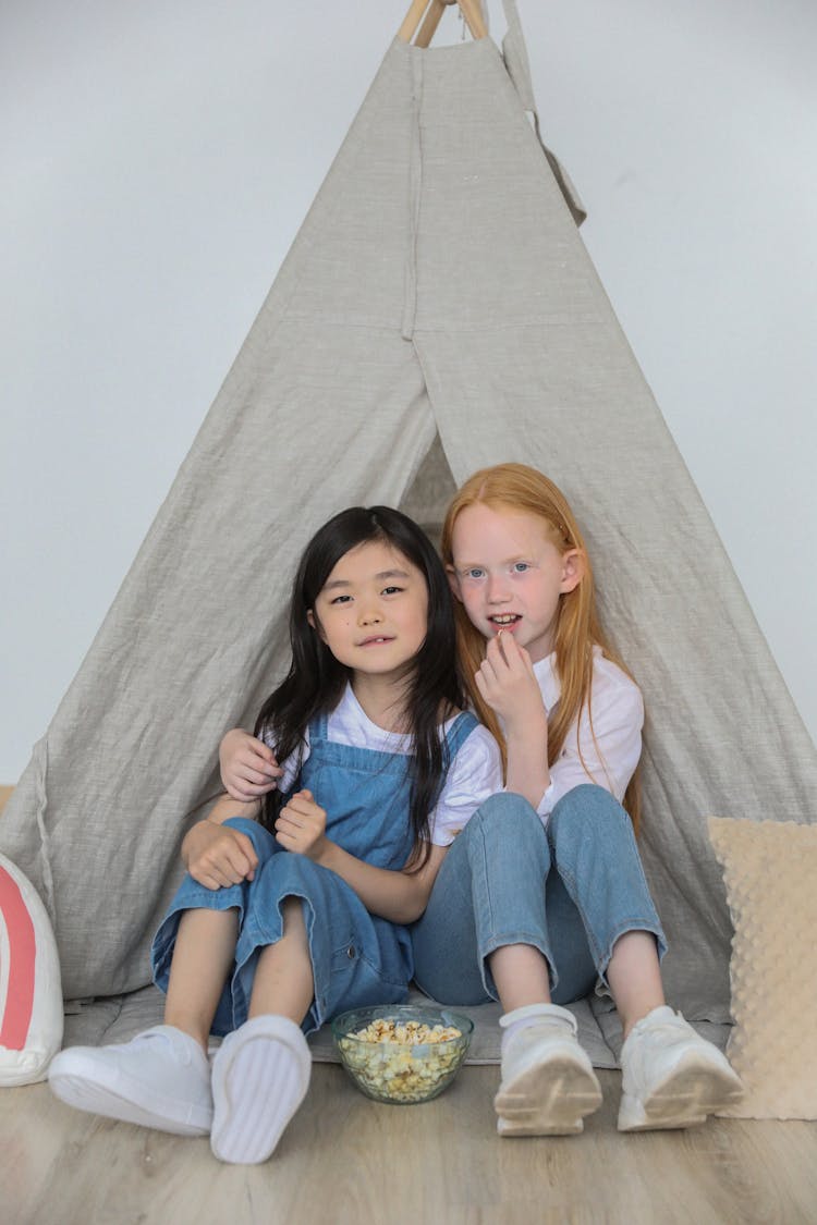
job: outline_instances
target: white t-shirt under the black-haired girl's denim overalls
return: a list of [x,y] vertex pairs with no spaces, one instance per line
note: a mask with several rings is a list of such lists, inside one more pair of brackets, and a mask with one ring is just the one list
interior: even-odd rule
[[[440,729],[440,736],[453,724],[450,719]],[[327,737],[333,744],[352,745],[356,748],[374,748],[378,752],[403,753],[413,751],[413,737],[396,731],[386,731],[365,713],[360,702],[347,685],[338,706],[327,719]],[[274,745],[271,745],[274,750]],[[309,730],[306,745],[300,756],[309,757]],[[299,755],[293,753],[280,763],[283,774],[278,785],[288,791],[299,771]],[[502,758],[499,745],[481,724],[470,733],[448,768],[440,799],[429,818],[431,842],[436,846],[450,846],[459,831],[489,795],[502,790]]]

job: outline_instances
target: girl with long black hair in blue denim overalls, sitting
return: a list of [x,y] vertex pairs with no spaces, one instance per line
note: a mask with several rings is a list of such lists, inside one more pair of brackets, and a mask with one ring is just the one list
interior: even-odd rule
[[[183,842],[187,876],[153,943],[163,1025],[70,1047],[59,1098],[266,1160],[306,1093],[305,1034],[405,998],[405,925],[447,846],[501,786],[494,737],[463,713],[442,565],[399,511],[353,507],[306,548],[292,665],[256,723],[276,788],[218,800]],[[239,733],[239,735],[246,735]],[[209,1034],[227,1035],[213,1058]]]

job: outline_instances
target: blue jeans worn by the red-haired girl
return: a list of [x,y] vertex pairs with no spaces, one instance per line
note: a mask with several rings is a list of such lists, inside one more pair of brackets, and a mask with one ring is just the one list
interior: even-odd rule
[[664,932],[630,817],[604,788],[573,788],[546,829],[519,795],[494,795],[442,861],[425,914],[412,926],[414,978],[447,1005],[496,1000],[486,958],[533,944],[548,960],[554,1003],[587,995],[616,940]]

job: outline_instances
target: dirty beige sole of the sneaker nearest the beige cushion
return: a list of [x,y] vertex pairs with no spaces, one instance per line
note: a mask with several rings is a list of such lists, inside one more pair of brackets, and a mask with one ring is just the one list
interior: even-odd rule
[[669,1131],[696,1127],[709,1115],[739,1101],[744,1087],[729,1066],[720,1067],[695,1054],[657,1085],[646,1101],[622,1093],[619,1109],[620,1132]]

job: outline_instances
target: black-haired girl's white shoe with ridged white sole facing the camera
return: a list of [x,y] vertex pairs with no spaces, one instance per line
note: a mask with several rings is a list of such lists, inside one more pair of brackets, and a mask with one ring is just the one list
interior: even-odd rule
[[254,1017],[228,1034],[213,1060],[213,1127],[219,1161],[266,1161],[306,1096],[312,1057],[287,1017]]

